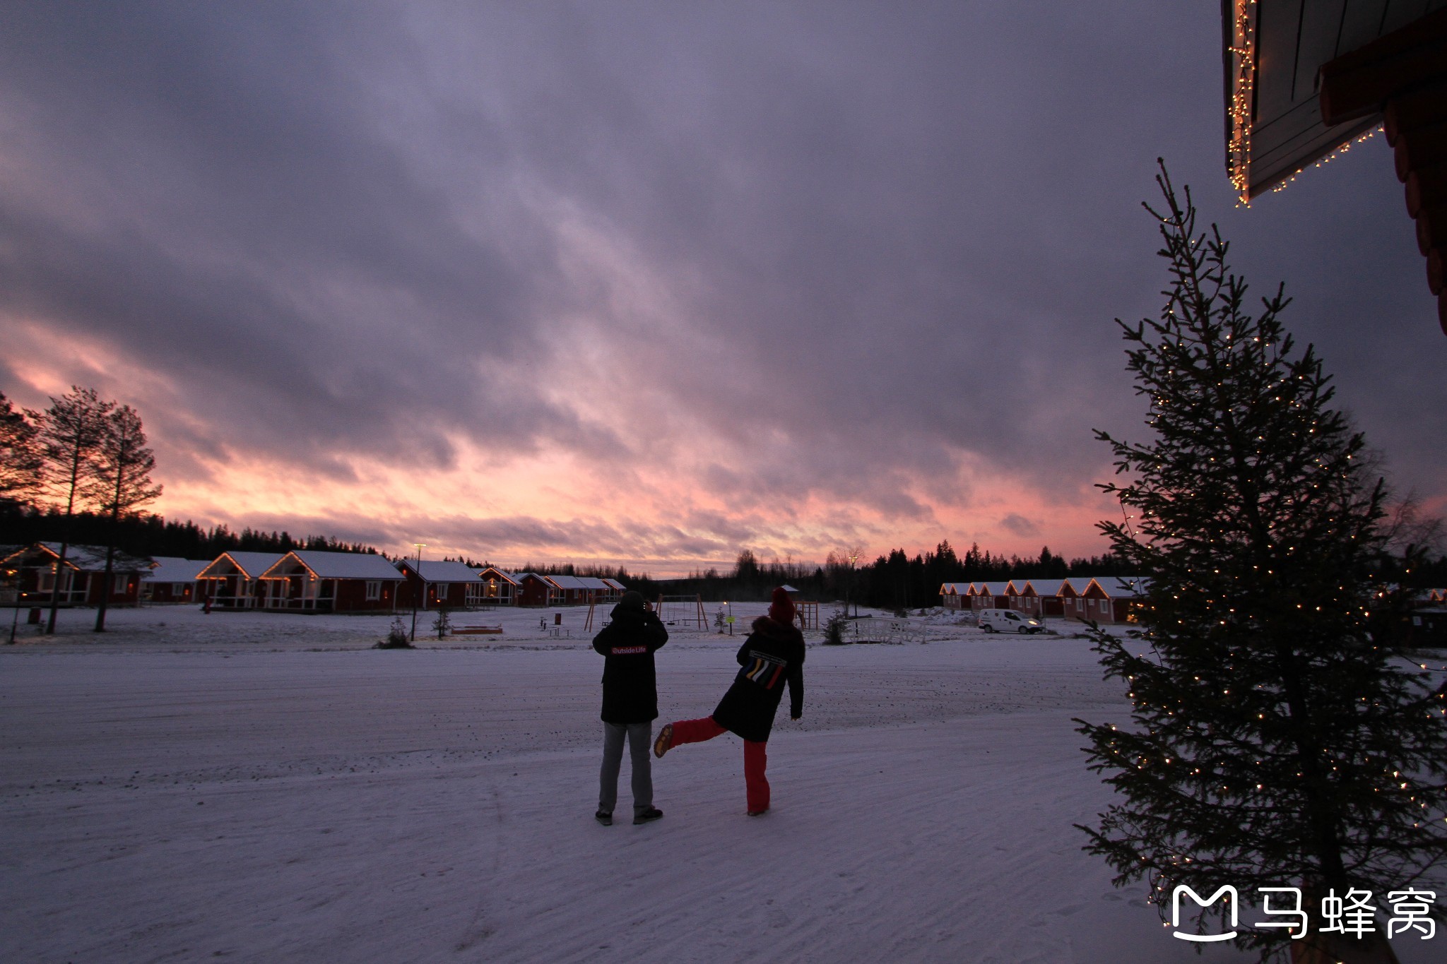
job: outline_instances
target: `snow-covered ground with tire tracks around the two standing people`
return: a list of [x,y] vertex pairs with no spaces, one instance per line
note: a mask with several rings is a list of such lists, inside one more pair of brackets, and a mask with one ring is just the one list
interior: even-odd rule
[[[925,645],[812,645],[768,815],[744,815],[726,736],[654,763],[664,819],[599,827],[602,660],[585,610],[557,611],[560,637],[551,610],[459,614],[505,632],[443,642],[423,617],[415,650],[370,649],[388,617],[22,626],[0,647],[4,960],[1253,960],[1198,957],[1081,853],[1071,824],[1110,793],[1069,718],[1127,718],[1084,640],[936,617]],[[663,720],[705,715],[739,640],[673,634]],[[1443,941],[1393,945],[1425,964]]]

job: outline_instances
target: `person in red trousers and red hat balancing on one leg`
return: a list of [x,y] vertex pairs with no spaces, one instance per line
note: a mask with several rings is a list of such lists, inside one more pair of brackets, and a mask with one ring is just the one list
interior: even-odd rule
[[789,715],[805,713],[805,636],[794,626],[794,604],[783,587],[774,590],[768,616],[754,620],[752,632],[738,647],[741,669],[713,715],[702,720],[667,723],[654,740],[654,756],[663,756],[682,743],[702,743],[722,733],[744,739],[744,785],[748,815],[768,811],[768,765],[765,747],[774,728],[774,714],[789,681]]

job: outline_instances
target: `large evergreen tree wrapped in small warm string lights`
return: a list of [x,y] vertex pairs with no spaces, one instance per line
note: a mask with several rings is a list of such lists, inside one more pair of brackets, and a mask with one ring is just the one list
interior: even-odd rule
[[[1150,581],[1136,639],[1094,632],[1133,726],[1077,721],[1120,796],[1081,830],[1117,886],[1149,880],[1162,919],[1178,885],[1236,886],[1236,942],[1266,960],[1289,935],[1249,926],[1256,887],[1302,887],[1312,915],[1351,887],[1388,909],[1447,856],[1447,685],[1398,643],[1386,490],[1320,358],[1283,331],[1289,299],[1278,288],[1250,314],[1220,231],[1195,233],[1163,166],[1158,184],[1165,211],[1146,210],[1172,285],[1158,321],[1120,322],[1155,438],[1097,432],[1127,513],[1100,528]],[[1198,932],[1213,918],[1221,905]]]

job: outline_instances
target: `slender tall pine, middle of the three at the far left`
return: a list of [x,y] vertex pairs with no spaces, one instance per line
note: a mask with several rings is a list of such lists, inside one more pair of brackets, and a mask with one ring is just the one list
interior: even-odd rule
[[[35,415],[35,444],[41,455],[41,478],[56,504],[65,506],[61,555],[55,562],[51,591],[51,614],[45,632],[55,632],[55,614],[61,606],[61,582],[65,578],[65,556],[69,552],[71,520],[96,478],[97,458],[107,434],[107,418],[114,402],[101,402],[94,389],[71,386],[61,397],[51,399],[51,408]],[[109,590],[109,587],[107,587]]]

